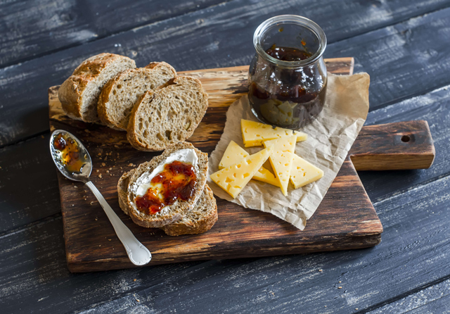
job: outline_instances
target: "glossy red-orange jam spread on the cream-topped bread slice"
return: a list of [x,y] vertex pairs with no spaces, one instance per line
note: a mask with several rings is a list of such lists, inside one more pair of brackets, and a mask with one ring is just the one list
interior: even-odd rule
[[197,176],[193,165],[174,161],[150,181],[152,185],[143,196],[134,200],[139,211],[147,215],[159,213],[177,200],[187,201],[195,193]]

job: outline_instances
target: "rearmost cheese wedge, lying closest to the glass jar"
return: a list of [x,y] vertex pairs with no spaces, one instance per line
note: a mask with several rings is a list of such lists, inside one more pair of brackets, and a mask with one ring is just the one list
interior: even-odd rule
[[283,129],[281,127],[272,127],[250,120],[240,120],[240,129],[245,147],[260,146],[262,142],[281,137],[297,137],[297,142],[306,141],[308,135],[303,132]]

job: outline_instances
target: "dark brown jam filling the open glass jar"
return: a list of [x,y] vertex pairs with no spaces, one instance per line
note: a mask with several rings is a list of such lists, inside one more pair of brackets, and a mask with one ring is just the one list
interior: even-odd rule
[[[303,44],[303,43],[302,43]],[[296,62],[311,57],[302,49],[275,44],[266,54],[280,61]],[[323,109],[326,78],[319,67],[283,67],[259,59],[250,69],[249,101],[264,123],[298,129],[314,120]]]

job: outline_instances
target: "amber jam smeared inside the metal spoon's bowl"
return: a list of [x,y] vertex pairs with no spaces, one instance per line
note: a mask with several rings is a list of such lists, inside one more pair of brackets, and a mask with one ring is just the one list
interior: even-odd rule
[[68,172],[82,172],[82,168],[86,164],[87,156],[80,151],[77,142],[67,135],[60,133],[53,137],[53,148],[58,152],[59,159]]

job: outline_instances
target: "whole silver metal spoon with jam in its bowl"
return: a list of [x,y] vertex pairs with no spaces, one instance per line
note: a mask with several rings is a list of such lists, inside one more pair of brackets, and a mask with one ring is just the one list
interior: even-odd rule
[[124,245],[131,263],[138,266],[149,263],[152,258],[150,251],[134,237],[131,230],[124,225],[113,208],[105,201],[94,183],[89,180],[93,168],[92,159],[82,142],[70,132],[55,130],[50,136],[50,152],[56,168],[65,177],[83,182],[94,193],[111,225],[113,225],[117,237]]

